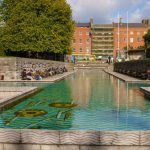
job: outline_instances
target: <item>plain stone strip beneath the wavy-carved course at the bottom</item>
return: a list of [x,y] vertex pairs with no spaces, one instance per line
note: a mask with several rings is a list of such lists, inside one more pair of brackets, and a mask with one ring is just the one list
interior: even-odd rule
[[149,146],[0,144],[0,150],[150,150]]

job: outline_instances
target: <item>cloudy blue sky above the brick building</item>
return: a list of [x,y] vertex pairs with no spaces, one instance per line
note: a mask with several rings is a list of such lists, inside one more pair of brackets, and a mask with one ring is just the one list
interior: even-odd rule
[[129,22],[141,22],[150,19],[150,0],[67,0],[73,10],[73,19],[76,22],[89,22],[94,18],[94,23],[117,22],[118,12]]

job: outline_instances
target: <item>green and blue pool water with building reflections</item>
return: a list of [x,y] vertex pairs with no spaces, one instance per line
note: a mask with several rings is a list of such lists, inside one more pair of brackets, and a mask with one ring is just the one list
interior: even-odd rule
[[2,111],[0,128],[150,130],[150,100],[139,90],[149,84],[129,84],[101,70],[84,70],[54,84],[0,86],[42,89]]

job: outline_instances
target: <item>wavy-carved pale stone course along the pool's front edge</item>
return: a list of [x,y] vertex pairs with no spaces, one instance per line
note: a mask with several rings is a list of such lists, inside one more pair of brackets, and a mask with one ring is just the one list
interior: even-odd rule
[[150,131],[0,129],[0,143],[150,146]]

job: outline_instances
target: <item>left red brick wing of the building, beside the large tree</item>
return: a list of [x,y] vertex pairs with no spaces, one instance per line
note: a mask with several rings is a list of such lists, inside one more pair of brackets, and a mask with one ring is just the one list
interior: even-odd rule
[[77,23],[72,40],[72,55],[78,59],[91,55],[90,23]]

